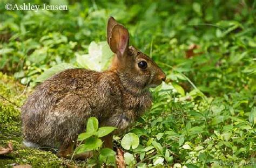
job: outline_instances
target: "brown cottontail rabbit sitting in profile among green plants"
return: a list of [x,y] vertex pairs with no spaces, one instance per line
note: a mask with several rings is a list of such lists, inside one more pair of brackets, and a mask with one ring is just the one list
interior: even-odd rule
[[100,127],[117,128],[104,137],[112,148],[112,135],[120,134],[151,108],[149,88],[165,81],[165,73],[144,53],[129,46],[129,32],[110,17],[107,43],[114,53],[103,72],[66,69],[38,85],[22,106],[22,130],[26,146],[57,148],[60,156],[73,152],[78,134],[89,117]]

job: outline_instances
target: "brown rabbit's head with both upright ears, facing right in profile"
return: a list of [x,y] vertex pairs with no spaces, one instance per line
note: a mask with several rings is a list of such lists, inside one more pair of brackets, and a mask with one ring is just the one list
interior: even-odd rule
[[115,54],[110,68],[119,74],[126,88],[143,90],[165,81],[165,73],[150,57],[133,46],[129,47],[128,30],[113,17],[107,22],[107,43]]

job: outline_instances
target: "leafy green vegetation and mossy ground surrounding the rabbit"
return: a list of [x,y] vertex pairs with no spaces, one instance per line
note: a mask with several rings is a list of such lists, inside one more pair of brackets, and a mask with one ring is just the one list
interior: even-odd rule
[[115,146],[125,152],[125,163],[255,166],[255,1],[63,0],[58,2],[69,4],[69,11],[4,9],[6,3],[24,2],[29,3],[0,2],[0,145],[11,140],[15,150],[0,156],[0,164],[115,165],[114,151],[98,148],[102,142],[97,143],[101,140],[95,119],[95,132],[79,138],[94,144],[89,147],[98,151],[98,160],[70,161],[24,148],[20,111],[9,102],[21,106],[38,82],[65,68],[105,69],[111,58],[106,20],[113,16],[129,29],[131,44],[167,74],[166,83],[152,89],[152,108],[114,137]]

